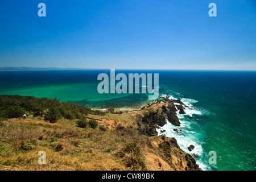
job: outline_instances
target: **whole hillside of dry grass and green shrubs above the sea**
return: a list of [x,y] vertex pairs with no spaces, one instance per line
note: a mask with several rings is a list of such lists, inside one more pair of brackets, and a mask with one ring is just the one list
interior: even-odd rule
[[[6,114],[10,107],[31,113],[27,119],[0,121],[1,170],[198,169],[195,160],[180,150],[174,138],[139,134],[138,112],[104,114],[45,98],[0,98],[1,113]],[[43,114],[35,114],[40,106]],[[51,108],[75,114],[67,118],[62,113],[55,122],[49,122],[46,115]],[[46,152],[46,165],[38,164],[39,151]]]

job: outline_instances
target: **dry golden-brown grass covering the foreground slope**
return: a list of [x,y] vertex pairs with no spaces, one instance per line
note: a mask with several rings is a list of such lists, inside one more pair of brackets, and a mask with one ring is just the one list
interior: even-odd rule
[[[0,126],[0,170],[143,169],[115,155],[135,137],[132,130],[81,129],[75,121],[9,119]],[[46,165],[38,164],[39,151],[46,152]]]

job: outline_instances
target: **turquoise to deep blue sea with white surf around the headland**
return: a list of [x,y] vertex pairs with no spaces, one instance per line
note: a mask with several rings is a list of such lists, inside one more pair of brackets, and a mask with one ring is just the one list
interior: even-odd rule
[[[97,76],[109,70],[0,72],[0,94],[59,98],[96,108],[139,106],[147,94],[99,94]],[[159,73],[159,93],[189,107],[178,114],[180,127],[163,128],[180,147],[198,154],[206,170],[255,170],[256,72],[242,71],[116,71]],[[174,128],[181,130],[180,134]],[[187,147],[193,144],[191,152]],[[217,164],[209,164],[215,151]]]

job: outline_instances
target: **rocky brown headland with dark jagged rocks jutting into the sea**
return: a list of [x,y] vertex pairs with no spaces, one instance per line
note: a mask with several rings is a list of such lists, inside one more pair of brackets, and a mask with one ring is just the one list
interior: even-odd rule
[[[176,112],[185,114],[185,107],[187,106],[180,100],[172,100],[168,95],[166,97],[159,96],[159,100],[151,102],[141,109],[137,108],[127,112],[122,110],[123,113],[118,114],[118,117],[117,114],[109,113],[104,118],[99,118],[98,121],[112,130],[117,128],[137,130],[139,134],[150,137],[152,143],[154,143],[153,146],[157,148],[159,148],[159,144],[166,145],[171,149],[172,156],[172,162],[169,162],[168,166],[171,166],[174,170],[201,170],[196,164],[196,160],[180,149],[175,138],[158,136],[159,134],[156,131],[158,126],[162,127],[167,122],[170,122],[174,126],[180,126]],[[176,132],[179,133],[180,131],[177,130]],[[192,145],[188,146],[189,151],[192,151],[193,148],[194,146]],[[154,160],[158,161],[159,156],[155,156]],[[170,170],[170,168],[167,170]]]

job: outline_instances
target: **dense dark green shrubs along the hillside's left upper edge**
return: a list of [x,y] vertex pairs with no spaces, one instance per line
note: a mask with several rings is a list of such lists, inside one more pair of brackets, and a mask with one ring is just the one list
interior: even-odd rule
[[84,119],[85,115],[104,115],[101,111],[87,107],[62,102],[49,98],[35,98],[31,96],[0,96],[0,117],[19,118],[24,112],[34,117],[44,117],[46,121],[56,122],[61,117],[65,119]]

